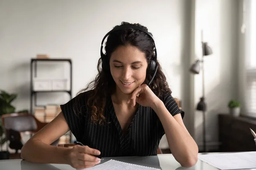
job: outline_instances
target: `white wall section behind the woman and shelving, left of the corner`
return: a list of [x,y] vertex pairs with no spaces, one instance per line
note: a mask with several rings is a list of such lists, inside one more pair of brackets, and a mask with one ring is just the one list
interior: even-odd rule
[[[0,0],[0,89],[19,94],[14,102],[17,110],[29,109],[29,63],[43,53],[73,60],[74,97],[96,74],[102,37],[128,21],[141,23],[153,33],[173,96],[188,102],[183,89],[189,83],[182,80],[183,74],[188,75],[184,61],[189,65],[187,4],[186,0]],[[41,70],[42,77],[68,75],[66,65],[39,67],[47,68]],[[47,94],[39,99],[44,104],[63,103],[68,97]],[[186,125],[189,120],[185,117]]]

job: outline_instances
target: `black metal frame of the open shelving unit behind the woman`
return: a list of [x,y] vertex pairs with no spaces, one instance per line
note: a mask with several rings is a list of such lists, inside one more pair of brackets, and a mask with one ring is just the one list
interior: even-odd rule
[[[37,77],[37,63],[38,62],[69,62],[70,63],[70,90],[53,90],[53,91],[34,91],[33,89],[33,78]],[[34,72],[34,74],[33,74]],[[55,93],[55,92],[64,92],[70,95],[70,99],[72,99],[72,60],[71,59],[31,59],[30,63],[30,113],[34,114],[34,106],[41,106],[37,104],[37,94],[38,93]],[[72,133],[70,131],[70,143]]]

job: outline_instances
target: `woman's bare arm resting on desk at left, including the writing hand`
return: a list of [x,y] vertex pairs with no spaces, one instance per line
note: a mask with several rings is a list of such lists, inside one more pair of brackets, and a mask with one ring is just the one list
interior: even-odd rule
[[80,145],[73,148],[50,145],[68,131],[69,126],[61,112],[52,122],[26,142],[21,149],[21,158],[35,163],[70,164],[76,169],[84,169],[99,164],[100,159],[94,156],[100,155],[99,150]]

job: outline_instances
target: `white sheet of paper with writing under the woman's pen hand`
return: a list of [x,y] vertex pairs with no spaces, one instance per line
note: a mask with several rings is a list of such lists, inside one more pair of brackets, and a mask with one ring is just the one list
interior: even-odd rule
[[104,162],[103,164],[99,164],[84,170],[159,170],[159,169],[152,168],[152,167],[143,167],[136,164],[128,164],[125,162],[111,159],[109,161]]

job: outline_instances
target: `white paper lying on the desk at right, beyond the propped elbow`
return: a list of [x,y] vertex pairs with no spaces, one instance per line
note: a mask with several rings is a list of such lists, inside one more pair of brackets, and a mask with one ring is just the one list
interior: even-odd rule
[[206,154],[198,159],[221,170],[256,168],[256,152]]

